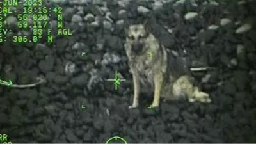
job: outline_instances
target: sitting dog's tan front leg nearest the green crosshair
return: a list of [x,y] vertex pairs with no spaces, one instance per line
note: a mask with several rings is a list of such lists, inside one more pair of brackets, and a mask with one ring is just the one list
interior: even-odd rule
[[139,106],[139,94],[140,94],[140,81],[138,72],[132,72],[132,79],[133,79],[133,85],[134,85],[134,96],[132,101],[132,106],[129,106],[129,108],[136,108]]

